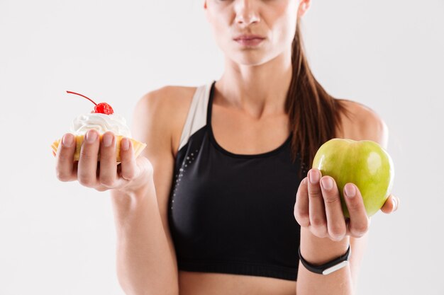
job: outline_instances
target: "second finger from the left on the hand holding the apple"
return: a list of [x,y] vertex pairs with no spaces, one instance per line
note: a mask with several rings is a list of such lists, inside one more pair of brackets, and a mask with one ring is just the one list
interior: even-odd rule
[[321,171],[311,169],[309,171],[309,216],[312,232],[319,238],[327,236],[326,209],[323,204],[323,197],[319,180]]

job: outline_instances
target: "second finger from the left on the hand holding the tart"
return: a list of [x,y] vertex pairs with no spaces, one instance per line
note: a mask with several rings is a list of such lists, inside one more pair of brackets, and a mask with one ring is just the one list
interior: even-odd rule
[[97,183],[97,154],[99,153],[99,132],[91,129],[85,134],[80,149],[77,178],[81,185],[95,187]]

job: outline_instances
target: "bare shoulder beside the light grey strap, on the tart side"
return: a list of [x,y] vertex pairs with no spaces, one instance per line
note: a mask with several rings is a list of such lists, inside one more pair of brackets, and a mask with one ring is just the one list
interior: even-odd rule
[[133,115],[135,137],[164,141],[174,151],[195,91],[196,87],[165,86],[142,96]]

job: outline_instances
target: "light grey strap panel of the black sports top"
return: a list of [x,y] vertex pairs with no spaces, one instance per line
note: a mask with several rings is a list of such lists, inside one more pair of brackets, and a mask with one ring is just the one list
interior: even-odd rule
[[184,129],[182,129],[178,151],[187,144],[194,132],[206,125],[206,112],[208,109],[211,83],[199,86],[194,93],[192,103],[189,106],[187,121],[185,122]]

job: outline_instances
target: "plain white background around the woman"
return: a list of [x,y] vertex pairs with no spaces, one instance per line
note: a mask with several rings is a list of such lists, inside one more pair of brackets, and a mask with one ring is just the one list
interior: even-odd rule
[[[50,143],[92,105],[218,79],[202,0],[0,0],[0,294],[123,294],[106,193],[60,183]],[[318,1],[314,74],[390,129],[399,212],[376,214],[358,294],[444,294],[444,1]],[[440,85],[441,84],[441,85]],[[295,253],[296,255],[296,253]]]

